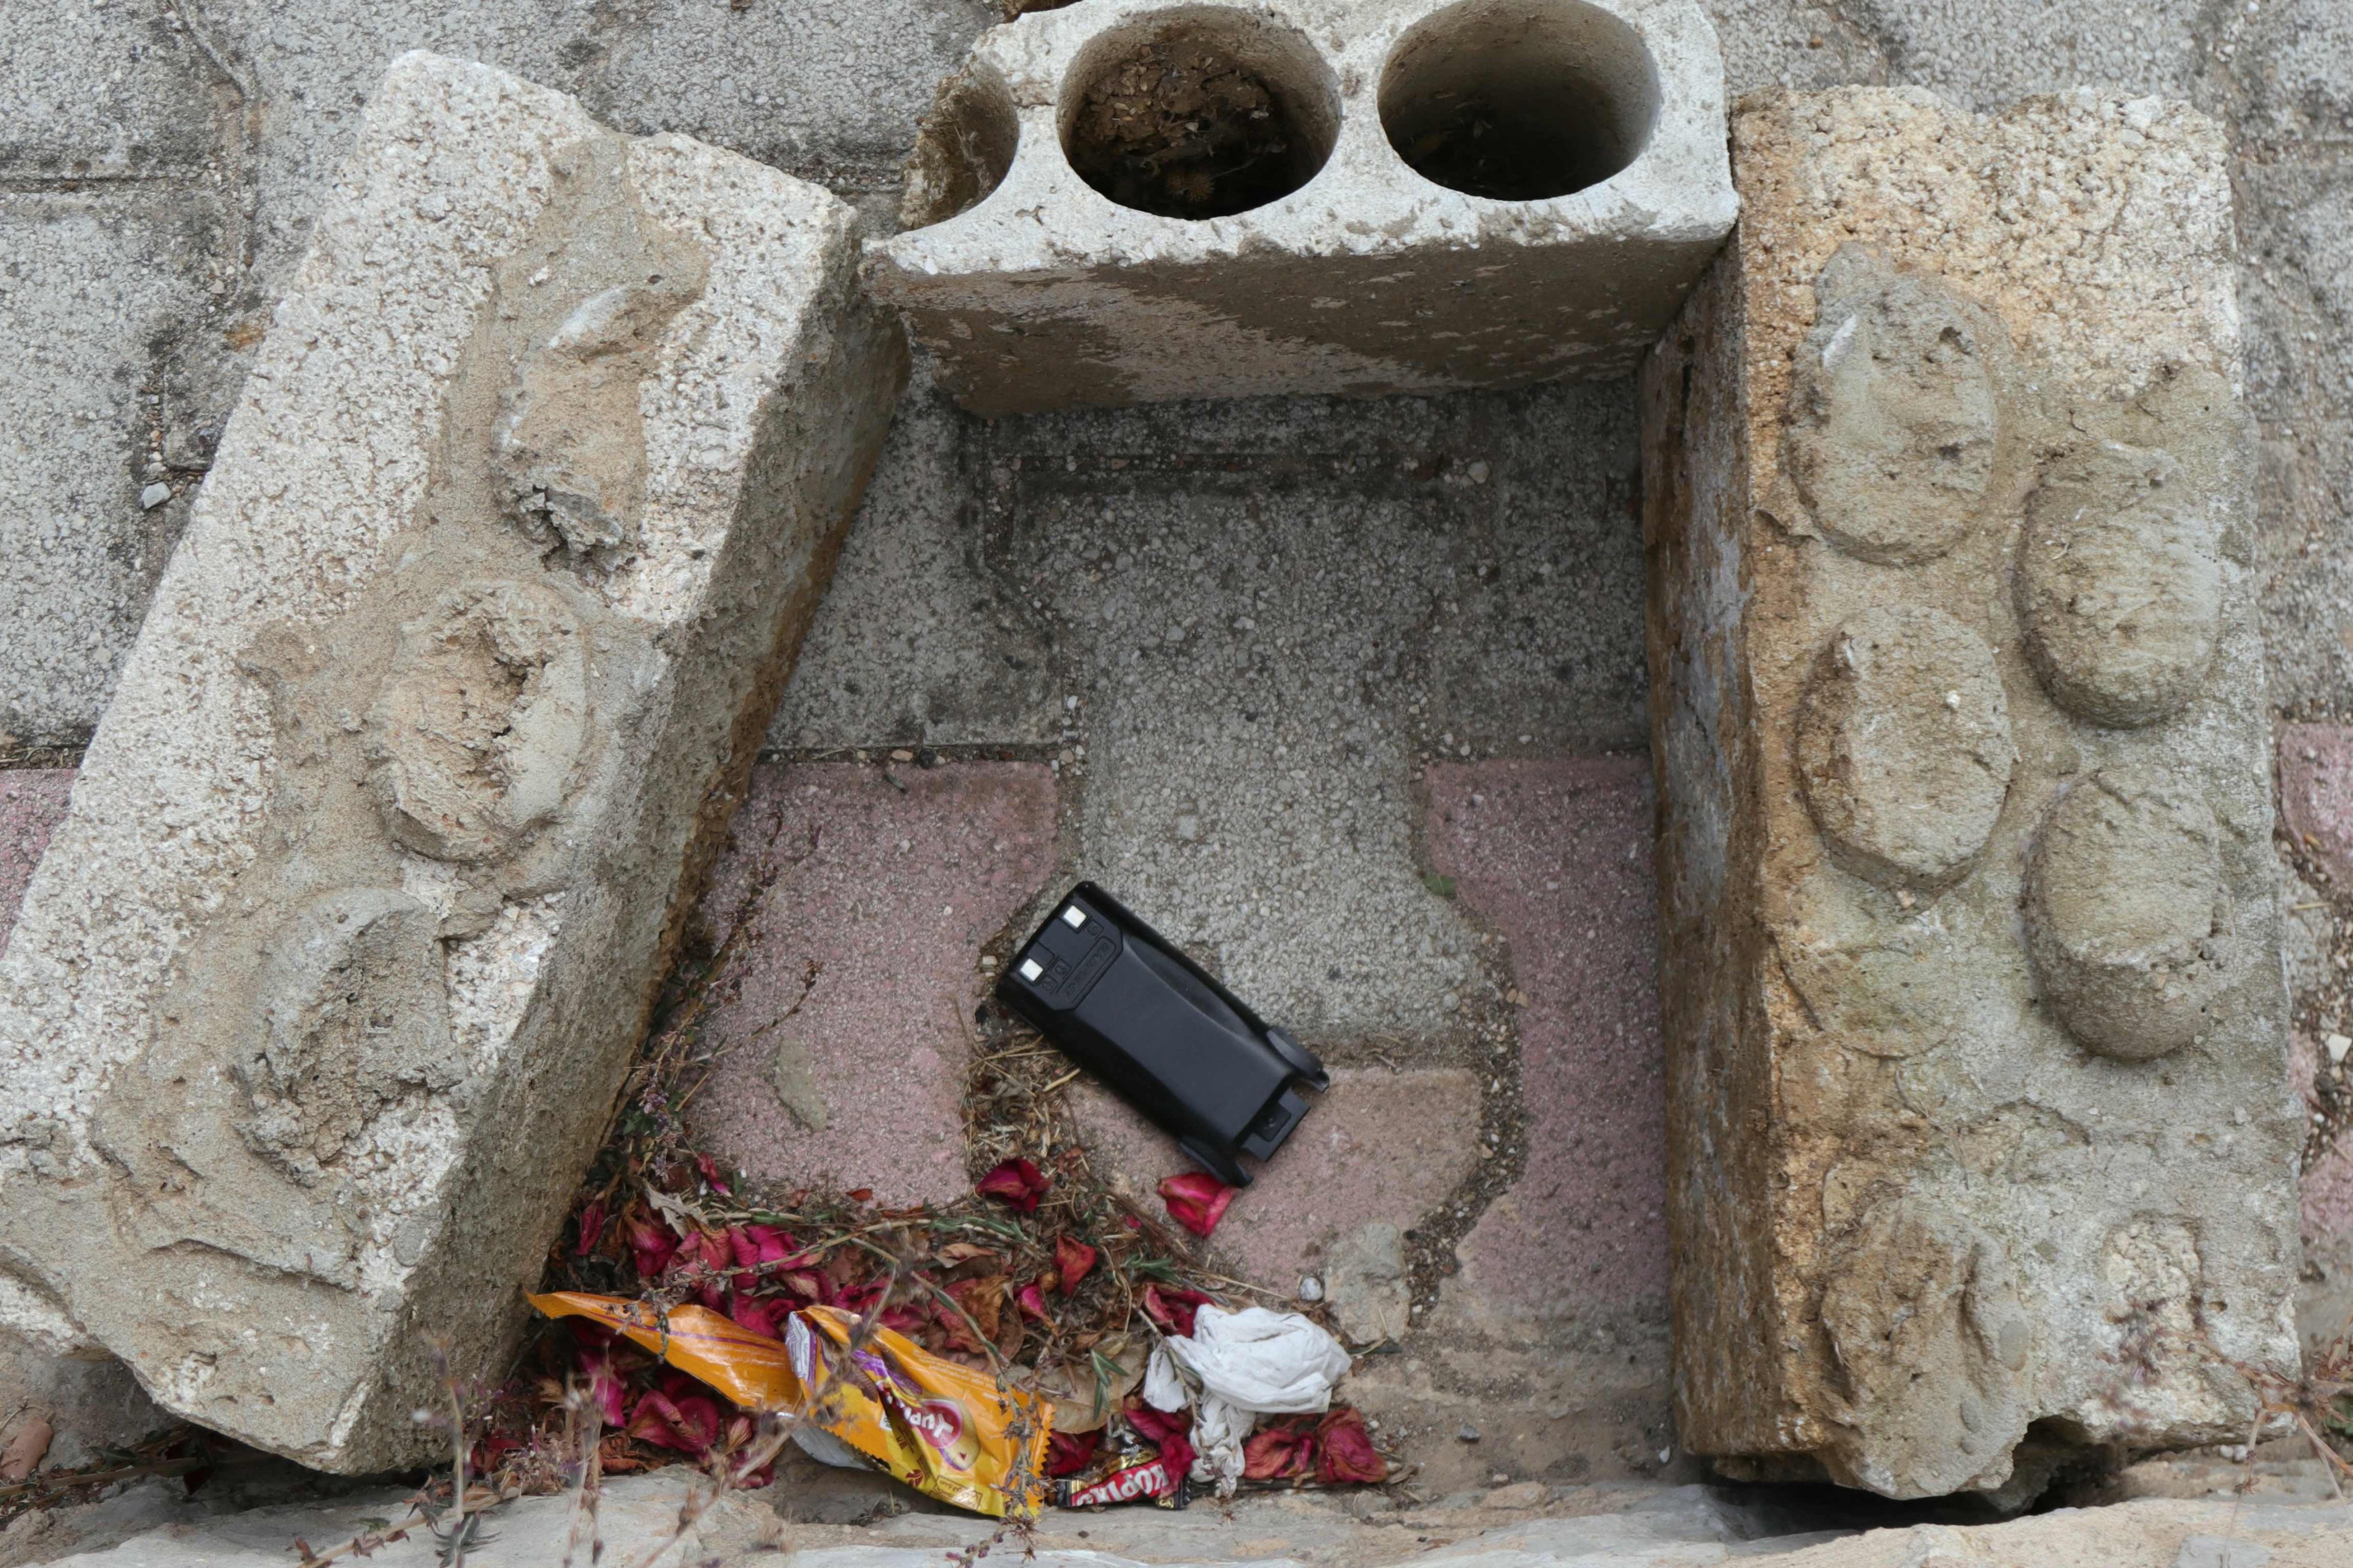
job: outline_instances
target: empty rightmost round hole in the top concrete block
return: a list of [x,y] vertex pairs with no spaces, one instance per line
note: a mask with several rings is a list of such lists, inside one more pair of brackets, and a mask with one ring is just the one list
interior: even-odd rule
[[1424,179],[1499,202],[1598,186],[1659,115],[1631,26],[1581,0],[1464,0],[1409,28],[1381,73],[1381,129]]

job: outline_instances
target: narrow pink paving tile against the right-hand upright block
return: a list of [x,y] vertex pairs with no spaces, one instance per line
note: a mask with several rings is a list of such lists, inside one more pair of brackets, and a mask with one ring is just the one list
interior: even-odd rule
[[1461,1244],[1525,1312],[1666,1300],[1666,1070],[1649,762],[1428,771],[1431,865],[1511,945],[1527,1168]]

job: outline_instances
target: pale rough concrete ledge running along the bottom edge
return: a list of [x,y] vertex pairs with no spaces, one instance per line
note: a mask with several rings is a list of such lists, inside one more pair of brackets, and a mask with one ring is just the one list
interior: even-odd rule
[[[948,1514],[896,1514],[871,1528],[788,1523],[791,1481],[767,1493],[732,1493],[711,1502],[685,1540],[659,1559],[687,1472],[621,1476],[605,1483],[598,1533],[605,1554],[628,1563],[748,1563],[779,1568],[920,1568],[984,1544],[988,1521]],[[1525,1488],[1522,1488],[1525,1490]],[[1539,1495],[1546,1488],[1534,1488]],[[1859,1528],[1857,1521],[1791,1519],[1741,1493],[1699,1486],[1609,1493],[1562,1488],[1551,1502],[1572,1516],[1534,1516],[1539,1497],[1499,1488],[1466,1507],[1395,1509],[1353,1516],[1306,1497],[1242,1497],[1231,1507],[1108,1509],[1049,1514],[1019,1542],[1026,1561],[1052,1568],[1120,1563],[1278,1563],[1367,1566],[1391,1561],[1464,1568],[1718,1568],[1772,1561],[1788,1568],[2332,1568],[2353,1549],[2353,1512],[2344,1505],[2264,1500],[2134,1500],[2106,1509],[2061,1509],[1991,1526],[1906,1523]],[[181,1516],[155,1528],[56,1559],[75,1568],[261,1568],[282,1563],[294,1537],[325,1549],[353,1533],[400,1519],[398,1490],[358,1493],[339,1502],[296,1502],[231,1516]],[[1814,1526],[1814,1528],[1807,1528]],[[1824,1528],[1828,1526],[1828,1528]],[[485,1542],[468,1561],[485,1568],[551,1563],[572,1528],[567,1497],[522,1497],[496,1507]],[[1019,1549],[1012,1547],[1012,1549]],[[1007,1547],[1000,1547],[1007,1549]],[[426,1530],[381,1547],[369,1561],[388,1568],[431,1563]],[[2228,1556],[2224,1556],[2228,1554]]]

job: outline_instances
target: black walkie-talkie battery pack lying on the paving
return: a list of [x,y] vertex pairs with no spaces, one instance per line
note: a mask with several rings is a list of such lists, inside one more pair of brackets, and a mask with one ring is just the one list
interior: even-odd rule
[[1202,1171],[1247,1187],[1332,1074],[1297,1039],[1080,882],[1014,954],[998,1001],[1167,1131]]

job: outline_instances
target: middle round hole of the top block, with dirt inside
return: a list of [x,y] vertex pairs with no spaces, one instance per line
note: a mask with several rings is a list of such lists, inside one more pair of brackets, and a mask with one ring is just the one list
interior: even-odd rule
[[1096,38],[1064,87],[1071,167],[1120,207],[1221,219],[1299,190],[1339,134],[1339,89],[1292,28],[1221,7]]

